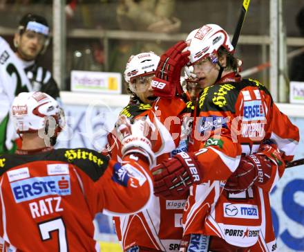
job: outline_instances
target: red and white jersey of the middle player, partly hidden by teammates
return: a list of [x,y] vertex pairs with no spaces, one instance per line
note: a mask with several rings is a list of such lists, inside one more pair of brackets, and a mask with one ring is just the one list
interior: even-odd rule
[[[153,109],[150,105],[130,104],[122,110],[121,114],[131,120],[149,116],[146,120],[153,129],[149,138],[153,144],[157,162],[159,162],[169,158],[172,150],[179,151],[176,149],[180,139],[178,115],[182,109],[184,109],[184,102],[178,98],[160,99],[155,102]],[[171,132],[177,132],[178,136],[174,136]],[[120,142],[117,139],[116,143],[113,141],[113,134],[108,139],[108,147],[110,146],[112,146],[111,156],[114,159],[120,159]],[[180,143],[180,147],[185,148],[185,143]],[[186,198],[187,195],[175,199],[163,199],[153,195],[151,204],[142,212],[114,217],[117,236],[124,251],[133,246],[146,247],[156,251],[178,251],[182,239],[182,213]]]

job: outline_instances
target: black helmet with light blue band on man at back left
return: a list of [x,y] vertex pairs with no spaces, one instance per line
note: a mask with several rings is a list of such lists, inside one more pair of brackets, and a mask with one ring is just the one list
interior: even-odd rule
[[[39,54],[44,54],[46,48],[50,42],[50,27],[48,26],[48,21],[44,17],[39,15],[28,13],[24,15],[19,21],[18,33],[22,35],[26,30],[32,30],[35,33],[39,33],[45,36],[44,46]],[[17,48],[19,45],[14,39],[14,46]]]

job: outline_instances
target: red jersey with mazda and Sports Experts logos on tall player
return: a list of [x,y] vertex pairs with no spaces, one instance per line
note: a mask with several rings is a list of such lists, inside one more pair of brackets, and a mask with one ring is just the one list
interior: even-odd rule
[[275,239],[269,190],[284,171],[274,168],[263,189],[253,186],[233,195],[223,186],[238,167],[240,155],[256,152],[265,138],[273,138],[290,161],[299,140],[298,128],[278,111],[260,82],[234,75],[205,88],[197,109],[189,151],[198,156],[205,180],[191,187],[183,215],[184,235],[216,235],[243,247],[259,240],[272,248]]

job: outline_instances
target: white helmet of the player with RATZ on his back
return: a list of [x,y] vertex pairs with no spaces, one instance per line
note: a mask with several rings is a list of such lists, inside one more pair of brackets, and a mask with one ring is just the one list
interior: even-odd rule
[[19,93],[10,114],[18,134],[45,129],[48,117],[55,119],[56,133],[64,127],[64,112],[58,102],[42,92]]

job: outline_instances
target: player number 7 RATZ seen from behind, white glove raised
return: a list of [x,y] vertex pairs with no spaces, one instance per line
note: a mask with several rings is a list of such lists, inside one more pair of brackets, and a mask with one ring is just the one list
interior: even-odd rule
[[[122,161],[86,148],[53,145],[64,117],[46,93],[20,93],[11,116],[21,150],[0,156],[0,236],[3,251],[99,251],[98,212],[126,215],[151,201],[151,142],[144,121],[118,122]],[[133,134],[131,134],[133,132]]]

